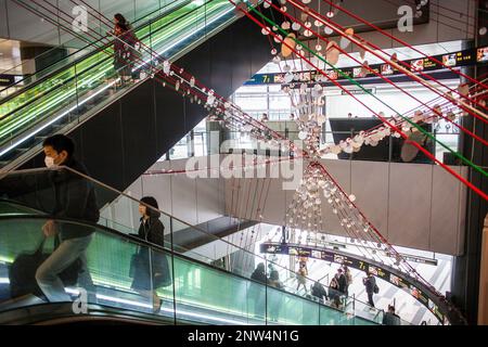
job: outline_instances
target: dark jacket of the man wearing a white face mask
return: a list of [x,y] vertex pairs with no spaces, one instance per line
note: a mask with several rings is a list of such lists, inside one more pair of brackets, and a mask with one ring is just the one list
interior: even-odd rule
[[[68,159],[64,165],[88,176],[86,167],[75,158]],[[51,171],[50,180],[54,187],[55,196],[51,215],[92,223],[99,221],[100,211],[94,188],[90,181],[66,169]],[[88,236],[94,231],[94,228],[76,224],[64,224],[61,228],[63,240]]]

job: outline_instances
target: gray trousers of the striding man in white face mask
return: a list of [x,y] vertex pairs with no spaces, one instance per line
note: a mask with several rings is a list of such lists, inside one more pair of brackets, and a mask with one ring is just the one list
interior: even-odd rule
[[61,240],[60,246],[39,266],[36,271],[36,280],[49,301],[72,300],[69,295],[64,291],[64,284],[59,274],[78,258],[82,262],[82,273],[79,274],[78,283],[91,294],[90,296],[94,295],[93,281],[91,280],[90,272],[88,272],[86,255],[92,236]]

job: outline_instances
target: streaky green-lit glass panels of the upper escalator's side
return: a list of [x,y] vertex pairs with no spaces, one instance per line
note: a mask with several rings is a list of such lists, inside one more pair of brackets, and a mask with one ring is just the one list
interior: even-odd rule
[[[224,0],[207,1],[200,7],[191,2],[141,26],[136,34],[145,46],[160,52],[184,35],[191,35],[202,23],[229,11],[230,7]],[[151,57],[150,53],[147,56]],[[86,59],[0,104],[0,145],[12,142],[12,139],[61,112],[68,114],[82,98],[106,89],[115,77],[113,48],[108,44],[103,51],[88,54]]]

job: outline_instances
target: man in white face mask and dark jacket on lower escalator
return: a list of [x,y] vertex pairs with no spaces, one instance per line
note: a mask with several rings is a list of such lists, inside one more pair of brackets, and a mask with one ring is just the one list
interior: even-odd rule
[[[75,144],[68,137],[52,136],[44,140],[42,146],[46,154],[46,166],[66,166],[87,175],[85,166],[73,156]],[[50,172],[50,179],[55,192],[55,204],[51,213],[54,217],[92,223],[99,220],[100,213],[97,207],[94,189],[88,180],[66,169]],[[81,287],[87,290],[89,300],[92,300],[94,286],[87,269],[86,250],[90,245],[94,228],[48,220],[42,227],[42,231],[46,236],[57,234],[60,240],[57,248],[39,266],[36,272],[36,280],[42,293],[49,301],[69,301],[70,297],[64,291],[59,274],[75,261],[80,260],[81,271],[78,282]]]

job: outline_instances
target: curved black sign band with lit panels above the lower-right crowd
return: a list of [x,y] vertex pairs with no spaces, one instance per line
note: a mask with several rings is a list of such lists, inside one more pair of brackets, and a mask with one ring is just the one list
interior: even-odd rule
[[286,243],[272,243],[266,242],[260,245],[260,252],[267,254],[282,254],[282,255],[295,255],[300,257],[310,257],[316,259],[325,260],[328,262],[336,262],[341,265],[346,265],[348,267],[369,271],[375,277],[391,283],[393,285],[403,290],[411,296],[413,296],[419,303],[427,307],[427,309],[437,317],[437,319],[444,323],[445,314],[440,312],[439,307],[432,301],[427,294],[418,288],[413,283],[407,281],[403,278],[398,277],[395,273],[389,272],[383,268],[368,262],[367,259],[358,259],[356,257],[346,256],[334,252],[330,248],[318,248],[311,246],[303,246],[297,244],[286,244]]

